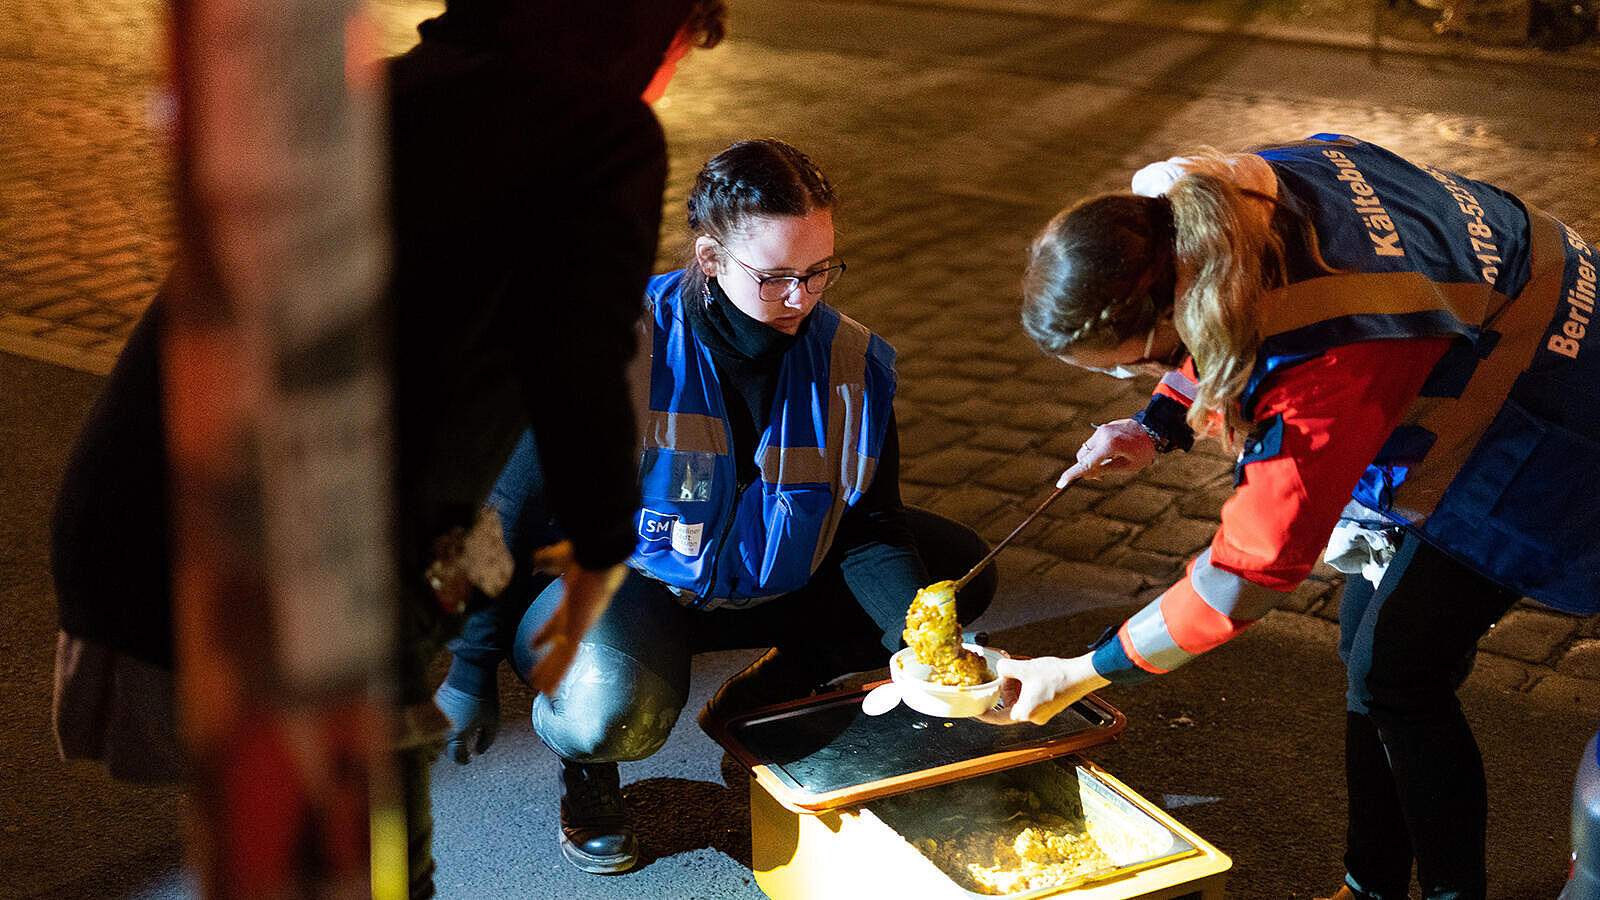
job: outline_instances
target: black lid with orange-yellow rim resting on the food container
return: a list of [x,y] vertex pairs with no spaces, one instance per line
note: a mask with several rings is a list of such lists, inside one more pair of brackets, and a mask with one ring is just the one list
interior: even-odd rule
[[712,737],[784,807],[822,812],[1053,759],[1126,725],[1093,693],[1043,725],[941,719],[906,705],[867,716],[861,700],[872,687],[754,709]]

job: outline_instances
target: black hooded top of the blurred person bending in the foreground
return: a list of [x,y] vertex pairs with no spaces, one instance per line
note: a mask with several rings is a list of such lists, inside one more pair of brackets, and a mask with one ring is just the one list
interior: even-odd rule
[[640,93],[686,0],[453,0],[390,67],[405,573],[531,424],[590,569],[632,549],[624,367],[666,143]]

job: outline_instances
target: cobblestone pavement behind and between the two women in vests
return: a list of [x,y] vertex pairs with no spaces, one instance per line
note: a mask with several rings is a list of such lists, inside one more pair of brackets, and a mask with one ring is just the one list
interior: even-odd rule
[[[674,146],[667,211],[680,218],[682,186],[726,139],[776,133],[814,151],[845,199],[851,271],[834,303],[901,354],[906,496],[990,540],[1037,504],[1091,423],[1142,407],[1150,389],[1074,372],[1021,335],[1026,243],[1067,200],[1123,187],[1138,165],[1197,143],[1338,130],[1506,184],[1600,232],[1600,119],[1533,120],[1515,109],[1522,98],[1478,112],[1488,104],[1474,94],[1490,86],[1459,80],[1451,64],[1334,69],[1299,46],[1266,51],[1278,58],[1269,62],[1208,35],[1131,29],[1078,69],[1070,59],[1090,56],[1088,38],[1053,30],[1053,19],[973,16],[958,34],[933,34],[915,6],[864,6],[862,37],[822,40],[811,8],[763,8],[755,40],[766,46],[734,42],[693,58],[662,109]],[[886,50],[872,51],[875,42]],[[810,86],[808,74],[827,74],[827,86]],[[1210,445],[1165,456],[1120,490],[1074,488],[1006,551],[1013,570],[1109,597],[1155,596],[1210,541],[1230,468]],[[1285,609],[1334,620],[1338,583],[1318,569]],[[1496,671],[1509,687],[1584,695],[1592,708],[1597,636],[1594,621],[1526,605],[1483,649],[1506,663]]]

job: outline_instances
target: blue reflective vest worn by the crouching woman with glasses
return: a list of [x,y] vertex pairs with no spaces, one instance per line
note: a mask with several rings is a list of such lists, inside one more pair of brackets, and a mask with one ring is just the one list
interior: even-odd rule
[[894,349],[818,304],[784,354],[755,445],[760,477],[741,485],[717,367],[683,317],[682,277],[656,275],[646,288],[643,506],[629,564],[699,605],[750,605],[803,586],[872,485],[894,404]]

